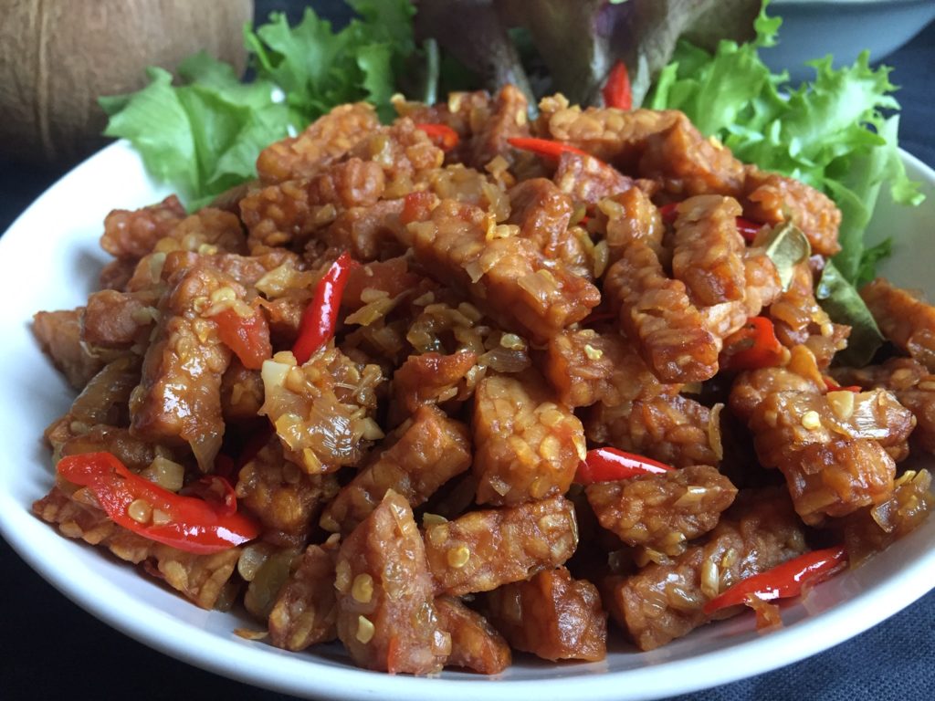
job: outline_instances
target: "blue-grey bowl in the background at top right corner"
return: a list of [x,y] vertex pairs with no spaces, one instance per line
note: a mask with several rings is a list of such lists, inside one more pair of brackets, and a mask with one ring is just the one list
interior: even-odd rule
[[884,59],[935,19],[935,0],[772,0],[768,11],[783,26],[779,43],[760,56],[798,83],[814,78],[805,62],[828,53],[836,66],[853,64],[862,50],[872,62]]

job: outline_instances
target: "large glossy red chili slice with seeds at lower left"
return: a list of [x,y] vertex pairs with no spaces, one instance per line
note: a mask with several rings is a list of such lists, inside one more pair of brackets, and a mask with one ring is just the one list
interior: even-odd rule
[[70,455],[59,461],[58,472],[90,489],[111,521],[181,551],[225,551],[260,534],[259,526],[244,514],[173,494],[130,472],[109,452]]

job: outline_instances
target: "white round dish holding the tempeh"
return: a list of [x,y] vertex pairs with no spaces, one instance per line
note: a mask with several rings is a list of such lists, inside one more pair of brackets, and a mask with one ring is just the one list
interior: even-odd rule
[[[935,172],[903,159],[924,182],[927,202],[895,207],[883,197],[877,234],[897,236],[885,274],[900,285],[935,292]],[[494,679],[458,672],[438,678],[389,676],[354,668],[338,647],[316,653],[277,650],[234,635],[255,627],[234,614],[194,607],[104,551],[58,535],[30,511],[52,483],[42,430],[65,413],[72,393],[36,348],[30,333],[39,309],[74,308],[106,262],[97,247],[111,208],[164,196],[123,143],[102,150],[61,179],[0,238],[0,530],[23,559],[63,594],[109,625],[185,662],[288,694],[346,699],[563,701],[648,699],[680,694],[788,665],[870,628],[935,586],[935,519],[869,564],[817,587],[783,610],[783,629],[757,634],[750,615],[720,622],[652,652],[623,643],[601,663],[549,665],[526,656]],[[935,296],[935,295],[933,295]]]

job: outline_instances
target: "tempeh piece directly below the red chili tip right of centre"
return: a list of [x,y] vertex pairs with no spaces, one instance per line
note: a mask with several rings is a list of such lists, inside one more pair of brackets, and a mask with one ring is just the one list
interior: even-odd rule
[[717,525],[737,488],[714,467],[589,484],[584,493],[601,526],[626,545],[678,555]]

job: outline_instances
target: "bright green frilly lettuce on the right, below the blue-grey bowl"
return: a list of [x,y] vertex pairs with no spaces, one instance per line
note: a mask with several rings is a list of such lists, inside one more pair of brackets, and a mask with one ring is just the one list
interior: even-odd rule
[[881,336],[856,287],[873,279],[892,244],[867,249],[864,232],[883,183],[896,202],[923,199],[899,158],[898,117],[885,116],[899,109],[896,87],[890,68],[871,68],[866,52],[838,69],[830,56],[811,62],[815,78],[798,87],[771,73],[757,50],[776,43],[781,21],[767,16],[767,5],[753,42],[722,41],[710,52],[681,41],[649,107],[681,109],[742,161],[803,180],[835,200],[841,252],[825,268],[819,299],[833,321],[853,327],[851,357],[869,359]]

